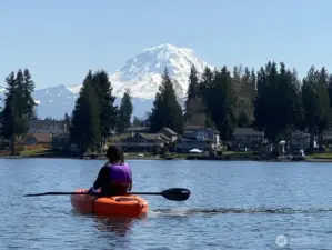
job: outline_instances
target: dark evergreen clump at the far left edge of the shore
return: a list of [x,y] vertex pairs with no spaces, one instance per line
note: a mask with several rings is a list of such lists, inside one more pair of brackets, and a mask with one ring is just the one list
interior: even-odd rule
[[17,139],[28,132],[29,120],[37,119],[36,102],[32,98],[34,82],[28,69],[11,72],[6,78],[6,93],[3,108],[0,113],[0,132],[4,139],[11,141],[11,151],[17,153]]

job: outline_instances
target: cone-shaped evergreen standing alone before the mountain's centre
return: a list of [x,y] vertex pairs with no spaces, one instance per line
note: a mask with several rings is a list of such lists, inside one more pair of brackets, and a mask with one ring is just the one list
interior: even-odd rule
[[155,94],[152,112],[149,118],[151,132],[158,132],[163,127],[178,133],[183,131],[183,114],[177,101],[173,83],[165,68],[159,92]]

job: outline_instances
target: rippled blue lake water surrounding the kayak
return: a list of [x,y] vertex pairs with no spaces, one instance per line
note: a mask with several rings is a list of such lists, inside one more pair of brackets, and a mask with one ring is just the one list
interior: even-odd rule
[[67,196],[22,194],[90,188],[103,161],[0,159],[0,249],[332,249],[331,163],[128,162],[133,191],[191,197],[147,196],[142,219],[82,216]]

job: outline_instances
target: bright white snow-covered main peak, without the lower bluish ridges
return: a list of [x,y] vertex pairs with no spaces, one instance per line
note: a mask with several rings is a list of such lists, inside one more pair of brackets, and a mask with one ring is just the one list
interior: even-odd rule
[[160,44],[130,58],[110,77],[110,80],[114,87],[114,94],[118,97],[122,97],[125,89],[129,88],[133,97],[153,99],[167,67],[178,97],[183,98],[187,93],[188,78],[192,66],[199,73],[202,73],[205,67],[213,68],[199,59],[189,48],[178,48],[168,43]]

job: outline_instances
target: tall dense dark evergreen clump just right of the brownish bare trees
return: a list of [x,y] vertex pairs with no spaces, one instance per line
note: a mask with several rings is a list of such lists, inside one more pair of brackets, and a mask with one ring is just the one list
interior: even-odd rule
[[255,124],[266,138],[276,142],[288,138],[299,124],[301,110],[296,77],[280,63],[268,62],[258,73],[258,97],[255,102]]

